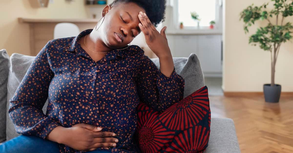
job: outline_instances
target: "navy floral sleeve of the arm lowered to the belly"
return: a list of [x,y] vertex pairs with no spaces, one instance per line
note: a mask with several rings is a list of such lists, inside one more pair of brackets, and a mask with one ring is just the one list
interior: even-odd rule
[[54,76],[48,63],[49,42],[31,63],[15,94],[9,100],[8,109],[17,133],[35,135],[44,140],[55,127],[60,126],[42,111]]

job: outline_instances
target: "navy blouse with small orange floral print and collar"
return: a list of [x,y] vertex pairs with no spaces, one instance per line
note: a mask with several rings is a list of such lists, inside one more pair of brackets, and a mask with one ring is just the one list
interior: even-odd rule
[[[105,151],[139,152],[133,139],[137,105],[144,102],[159,112],[166,110],[183,99],[184,79],[175,67],[166,77],[137,45],[113,49],[95,62],[79,44],[92,30],[47,42],[10,99],[9,116],[17,133],[43,139],[57,126],[100,126],[119,140]],[[59,148],[86,152],[64,144]]]

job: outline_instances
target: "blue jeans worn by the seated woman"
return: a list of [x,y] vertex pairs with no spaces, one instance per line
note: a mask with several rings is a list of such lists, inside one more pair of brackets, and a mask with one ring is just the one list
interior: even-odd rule
[[[59,152],[59,143],[43,140],[41,137],[34,135],[19,135],[13,139],[0,144],[0,152],[5,153],[57,153]],[[90,153],[109,153],[104,150],[88,151]]]

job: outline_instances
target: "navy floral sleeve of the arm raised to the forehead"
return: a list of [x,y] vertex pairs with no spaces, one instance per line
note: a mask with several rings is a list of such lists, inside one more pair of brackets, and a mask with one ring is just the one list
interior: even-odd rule
[[160,113],[183,99],[185,80],[175,67],[170,77],[161,73],[145,54],[138,72],[137,91],[142,102]]

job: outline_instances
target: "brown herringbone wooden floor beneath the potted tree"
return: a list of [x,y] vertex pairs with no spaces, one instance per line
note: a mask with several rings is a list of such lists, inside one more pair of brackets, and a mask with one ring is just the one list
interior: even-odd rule
[[293,96],[279,103],[263,96],[209,96],[211,116],[232,118],[242,153],[293,152]]

